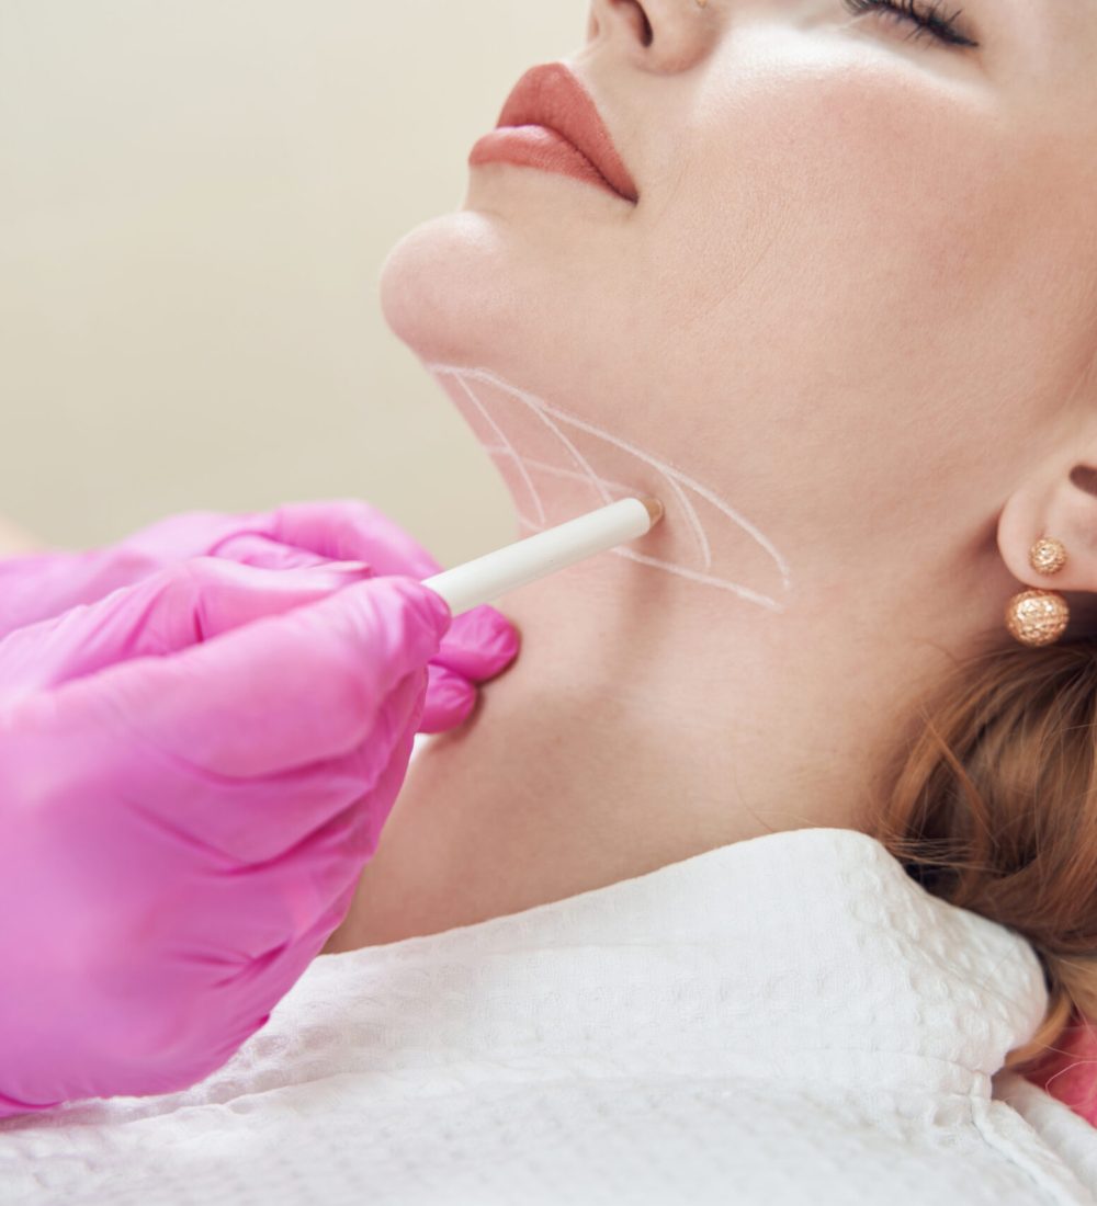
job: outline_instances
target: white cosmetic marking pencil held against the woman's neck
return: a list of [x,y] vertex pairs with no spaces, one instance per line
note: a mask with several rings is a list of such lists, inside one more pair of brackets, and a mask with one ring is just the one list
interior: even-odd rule
[[463,566],[424,579],[449,604],[454,616],[490,603],[558,569],[647,535],[663,519],[658,498],[622,498],[558,527],[508,544]]

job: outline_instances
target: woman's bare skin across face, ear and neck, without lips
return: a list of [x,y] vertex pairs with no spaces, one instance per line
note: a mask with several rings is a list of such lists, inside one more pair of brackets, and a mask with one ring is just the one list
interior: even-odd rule
[[[413,766],[327,949],[868,829],[914,704],[1010,644],[1014,593],[1054,585],[1068,636],[1092,622],[1097,497],[1072,470],[1097,467],[1097,5],[968,0],[957,25],[978,49],[841,0],[594,0],[567,62],[638,204],[485,164],[393,250],[385,314],[426,364],[706,482],[790,584],[706,522],[780,611],[611,555],[507,596],[518,661]],[[605,502],[530,467],[553,452],[506,390],[479,409],[442,385],[519,516],[531,478],[545,526]],[[658,469],[580,449],[667,504],[637,551],[696,558]],[[1045,532],[1070,556],[1054,582],[1027,560]]]

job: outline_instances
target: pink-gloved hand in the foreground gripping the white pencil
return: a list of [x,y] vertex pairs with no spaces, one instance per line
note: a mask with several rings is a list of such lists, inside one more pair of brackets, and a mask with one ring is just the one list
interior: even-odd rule
[[342,923],[451,622],[367,573],[198,557],[0,640],[0,1116],[194,1084]]

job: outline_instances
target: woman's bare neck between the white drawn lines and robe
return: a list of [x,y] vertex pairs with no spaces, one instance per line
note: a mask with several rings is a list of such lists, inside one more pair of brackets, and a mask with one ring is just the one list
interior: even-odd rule
[[500,607],[521,634],[517,661],[415,759],[326,952],[771,831],[870,827],[918,680],[866,592],[805,586],[775,615],[601,555]]

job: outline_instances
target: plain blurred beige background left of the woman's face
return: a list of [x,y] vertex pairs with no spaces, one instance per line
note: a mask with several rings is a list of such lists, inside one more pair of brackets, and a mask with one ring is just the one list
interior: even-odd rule
[[0,0],[0,514],[89,546],[354,496],[443,564],[513,539],[377,276],[585,11]]

